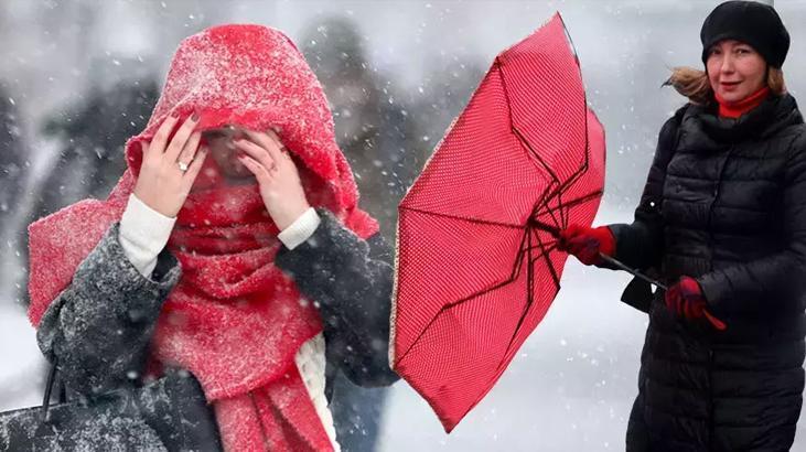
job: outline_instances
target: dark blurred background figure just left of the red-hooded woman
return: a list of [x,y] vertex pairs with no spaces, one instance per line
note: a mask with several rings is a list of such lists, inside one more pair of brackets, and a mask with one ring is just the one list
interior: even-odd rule
[[[90,71],[89,90],[77,105],[54,112],[43,134],[57,153],[36,184],[23,225],[86,197],[106,198],[126,169],[123,144],[146,127],[159,85],[137,60],[105,58]],[[18,184],[19,185],[19,184]],[[24,229],[18,235],[26,236]],[[19,240],[18,300],[28,304],[28,239]]]

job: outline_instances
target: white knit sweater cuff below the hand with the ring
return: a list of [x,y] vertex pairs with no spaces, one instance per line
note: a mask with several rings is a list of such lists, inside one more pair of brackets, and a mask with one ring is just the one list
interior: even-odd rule
[[176,218],[152,209],[132,193],[120,218],[120,246],[131,265],[146,278],[157,267],[157,256],[168,244]]

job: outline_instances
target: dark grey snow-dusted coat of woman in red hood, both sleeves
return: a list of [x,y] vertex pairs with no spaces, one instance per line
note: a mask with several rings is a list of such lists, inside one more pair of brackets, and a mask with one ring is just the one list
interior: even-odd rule
[[[322,314],[330,399],[338,370],[361,386],[386,386],[399,377],[388,363],[388,247],[379,234],[365,241],[330,213],[319,214],[322,223],[311,238],[293,250],[282,247],[275,263]],[[155,320],[181,276],[178,260],[163,250],[152,278],[144,278],[123,254],[118,234],[116,223],[39,326],[40,348],[58,359],[71,392],[101,394],[138,384]]]

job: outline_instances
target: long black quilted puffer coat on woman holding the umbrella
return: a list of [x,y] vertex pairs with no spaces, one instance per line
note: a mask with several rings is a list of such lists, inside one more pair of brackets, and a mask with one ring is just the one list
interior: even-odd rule
[[649,313],[628,451],[786,451],[804,389],[806,126],[773,96],[738,120],[689,105],[660,131],[616,257],[674,283],[697,279],[728,324]]

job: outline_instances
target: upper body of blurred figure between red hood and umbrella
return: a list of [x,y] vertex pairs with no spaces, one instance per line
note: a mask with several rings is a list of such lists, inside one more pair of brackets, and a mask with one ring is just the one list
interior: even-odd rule
[[416,118],[401,104],[395,80],[373,69],[350,20],[314,22],[302,43],[327,96],[336,139],[355,172],[361,204],[378,218],[384,238],[394,243],[397,204],[423,164]]

